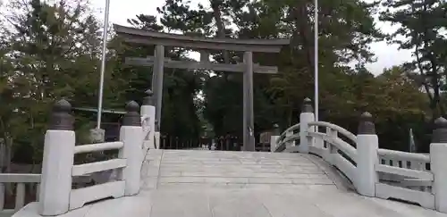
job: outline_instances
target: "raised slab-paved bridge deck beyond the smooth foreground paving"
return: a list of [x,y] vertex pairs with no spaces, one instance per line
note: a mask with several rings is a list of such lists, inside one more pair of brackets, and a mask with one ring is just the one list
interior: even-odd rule
[[324,171],[299,154],[164,151],[147,156],[143,175],[157,189],[176,186],[246,188],[256,184],[333,185]]

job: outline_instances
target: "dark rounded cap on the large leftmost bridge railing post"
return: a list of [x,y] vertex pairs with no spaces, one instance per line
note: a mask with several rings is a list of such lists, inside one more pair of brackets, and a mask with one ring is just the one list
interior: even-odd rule
[[53,106],[48,129],[73,130],[72,104],[61,99]]

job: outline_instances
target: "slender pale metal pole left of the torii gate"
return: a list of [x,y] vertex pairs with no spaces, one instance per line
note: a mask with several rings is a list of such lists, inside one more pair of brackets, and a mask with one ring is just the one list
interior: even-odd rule
[[104,13],[104,30],[103,30],[103,54],[101,60],[101,77],[99,79],[99,96],[97,99],[97,129],[101,128],[101,115],[103,111],[103,89],[104,89],[104,71],[105,71],[105,55],[107,52],[107,30],[109,22],[110,0],[105,0]]

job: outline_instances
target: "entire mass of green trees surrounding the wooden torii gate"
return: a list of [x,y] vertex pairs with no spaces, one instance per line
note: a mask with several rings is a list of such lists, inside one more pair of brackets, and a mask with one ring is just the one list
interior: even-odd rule
[[[445,114],[447,105],[445,4],[383,1],[390,10],[381,19],[401,24],[387,39],[414,50],[417,59],[375,77],[365,64],[375,60],[370,43],[384,38],[374,22],[378,3],[320,0],[320,119],[356,132],[358,114],[368,111],[375,116],[381,146],[406,150],[409,128],[426,145],[425,123]],[[0,19],[0,138],[9,148],[32,150],[38,162],[55,100],[97,106],[101,28],[87,0],[13,0],[5,9]],[[210,38],[291,38],[280,54],[254,54],[255,63],[279,68],[274,76],[255,74],[255,131],[261,132],[273,123],[284,129],[299,121],[302,100],[314,94],[314,10],[313,0],[209,0],[209,6],[166,0],[158,8],[159,23],[155,14],[128,22],[138,29]],[[126,101],[142,103],[152,68],[129,66],[124,59],[154,55],[154,46],[130,45],[113,36],[108,48],[104,107],[122,110]],[[165,57],[190,60],[189,49],[165,49]],[[242,58],[232,51],[211,55],[215,63]],[[351,69],[347,64],[352,62],[358,64]],[[188,139],[205,133],[240,137],[242,98],[241,74],[166,68],[162,133]],[[74,114],[77,140],[85,143],[95,117]]]

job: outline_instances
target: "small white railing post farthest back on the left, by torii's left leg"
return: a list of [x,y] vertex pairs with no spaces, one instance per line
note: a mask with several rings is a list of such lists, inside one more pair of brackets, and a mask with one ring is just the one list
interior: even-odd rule
[[148,96],[144,97],[143,99],[143,105],[141,105],[141,118],[147,118],[148,120],[143,121],[142,124],[144,124],[142,127],[143,129],[148,129],[149,133],[144,138],[144,150],[148,149],[155,149],[156,141],[155,141],[155,129],[156,129],[156,106],[155,106],[155,100],[153,97],[153,93],[150,89],[148,89],[145,92]]

